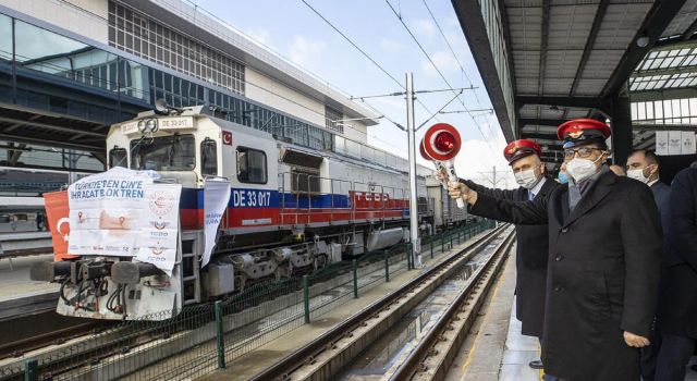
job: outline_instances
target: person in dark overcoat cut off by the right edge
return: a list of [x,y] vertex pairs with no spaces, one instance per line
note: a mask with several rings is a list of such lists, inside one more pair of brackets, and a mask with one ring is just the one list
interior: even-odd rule
[[663,258],[658,327],[662,343],[656,380],[684,380],[697,345],[697,169],[671,184],[669,249]]

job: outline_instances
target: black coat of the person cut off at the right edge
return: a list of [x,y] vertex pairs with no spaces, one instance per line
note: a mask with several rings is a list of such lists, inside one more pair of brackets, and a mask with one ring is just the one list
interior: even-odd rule
[[697,169],[675,175],[669,212],[658,323],[662,333],[697,339]]

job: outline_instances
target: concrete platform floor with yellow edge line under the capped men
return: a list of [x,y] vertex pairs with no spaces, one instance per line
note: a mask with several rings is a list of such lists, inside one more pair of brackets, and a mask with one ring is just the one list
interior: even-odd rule
[[[521,322],[515,318],[514,291],[515,256],[511,256],[447,380],[542,380],[543,372],[528,366],[529,361],[540,358],[540,346],[536,337],[521,334]],[[693,357],[692,364],[697,364],[697,357]],[[685,380],[697,381],[697,372],[689,366]]]

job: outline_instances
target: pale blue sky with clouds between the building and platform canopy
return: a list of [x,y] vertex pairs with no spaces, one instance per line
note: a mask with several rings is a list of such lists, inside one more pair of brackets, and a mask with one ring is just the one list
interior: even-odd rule
[[[440,90],[449,86],[400,19],[414,33],[428,57],[453,88],[464,90],[447,111],[490,109],[491,102],[468,49],[450,0],[305,0],[392,77],[331,28],[302,0],[191,0],[197,7],[223,20],[248,37],[267,46],[279,56],[328,82],[344,94],[360,97],[403,90],[405,73],[414,74],[415,90]],[[389,2],[388,2],[389,1]],[[429,14],[429,11],[433,17]],[[433,20],[435,19],[435,20]],[[439,30],[442,30],[441,32]],[[445,42],[450,42],[451,49]],[[416,125],[453,99],[451,91],[423,94],[415,107]],[[378,113],[406,125],[403,97],[366,99]],[[460,131],[464,144],[455,160],[461,177],[475,179],[484,185],[497,167],[499,186],[513,186],[508,163],[503,159],[505,140],[496,114],[489,111],[439,114],[427,124],[445,122]],[[417,132],[420,142],[426,128]],[[368,143],[406,157],[406,133],[386,119],[368,128]],[[424,163],[424,162],[421,162]]]

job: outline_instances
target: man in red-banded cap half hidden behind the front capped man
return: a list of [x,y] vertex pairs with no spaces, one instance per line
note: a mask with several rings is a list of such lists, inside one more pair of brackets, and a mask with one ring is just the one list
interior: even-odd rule
[[[527,201],[546,198],[559,185],[548,177],[545,164],[540,161],[542,149],[528,139],[511,142],[503,149],[503,157],[511,165],[517,189],[492,189],[468,180],[461,180],[469,188],[486,193],[493,198],[512,201]],[[439,179],[444,179],[439,175]],[[516,226],[516,280],[515,316],[522,322],[522,332],[538,337],[541,342],[545,318],[545,285],[547,282],[548,247],[547,225]],[[529,366],[542,368],[541,360],[533,360]]]

